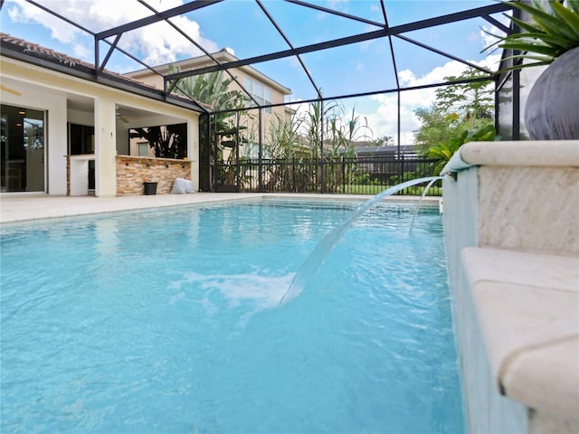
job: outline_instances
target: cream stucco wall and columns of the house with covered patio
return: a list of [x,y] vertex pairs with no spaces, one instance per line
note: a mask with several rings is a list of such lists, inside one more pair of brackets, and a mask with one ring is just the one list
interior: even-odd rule
[[[187,123],[187,151],[189,160],[193,163],[191,175],[198,176],[199,170],[195,167],[198,165],[199,149],[198,114],[194,111],[5,57],[0,58],[0,74],[3,81],[9,79],[11,87],[20,93],[16,95],[3,91],[3,103],[45,110],[48,113],[45,124],[46,193],[67,192],[65,158],[68,153],[67,122],[80,120],[82,124],[90,125],[87,121],[92,118],[91,124],[95,127],[95,194],[116,195],[115,156],[119,153],[119,149],[128,150],[128,134],[126,137],[119,137],[117,105],[147,110],[152,114],[160,114],[165,118],[179,119]],[[72,114],[73,110],[67,108],[71,94],[94,101],[90,112]]]

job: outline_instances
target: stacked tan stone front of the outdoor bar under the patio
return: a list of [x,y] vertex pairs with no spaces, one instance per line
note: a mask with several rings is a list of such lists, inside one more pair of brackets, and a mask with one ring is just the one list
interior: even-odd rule
[[117,195],[144,194],[143,183],[148,182],[157,183],[157,194],[171,193],[176,178],[191,179],[192,163],[170,158],[117,156]]

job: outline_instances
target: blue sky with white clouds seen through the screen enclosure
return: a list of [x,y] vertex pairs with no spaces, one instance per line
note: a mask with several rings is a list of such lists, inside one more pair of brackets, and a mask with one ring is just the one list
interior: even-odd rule
[[[36,0],[81,24],[91,32],[100,32],[152,14],[138,0]],[[147,0],[157,11],[182,5],[183,0]],[[378,0],[319,0],[315,5],[365,18],[370,23],[327,14],[318,10],[292,5],[281,0],[262,0],[268,14],[279,24],[293,47],[379,30],[375,24],[384,23]],[[441,14],[452,14],[493,0],[384,0],[388,24],[393,27],[413,23]],[[505,21],[500,16],[495,16]],[[171,19],[191,39],[208,52],[231,48],[239,59],[251,58],[268,52],[289,49],[289,43],[276,30],[260,5],[252,0],[226,0],[217,5],[198,9],[193,13]],[[94,62],[94,39],[61,19],[46,14],[24,0],[6,0],[0,11],[0,26],[9,33],[30,42],[39,43],[71,57]],[[483,32],[496,32],[483,20],[436,26],[413,33],[404,33],[414,41],[422,42],[471,61],[497,70],[499,54],[481,52],[492,39]],[[396,79],[404,87],[442,82],[445,77],[459,75],[466,66],[434,52],[418,48],[410,42],[393,38],[396,69],[394,70],[387,40],[359,42],[332,50],[310,52],[301,56],[316,86],[327,97],[343,96],[375,90],[392,90]],[[124,33],[119,41],[123,49],[137,55],[149,65],[164,64],[202,54],[195,45],[166,23]],[[104,49],[101,52],[106,52]],[[104,54],[102,54],[104,55]],[[307,74],[294,58],[267,61],[254,67],[288,87],[290,101],[316,97],[316,91]],[[114,54],[107,68],[126,72],[143,66],[122,54]],[[414,111],[432,104],[435,90],[413,90],[401,96],[401,144],[413,142],[413,131],[420,127]],[[391,136],[397,142],[397,96],[386,93],[372,97],[340,99],[344,111],[355,110],[361,122],[367,122],[372,137]],[[292,106],[303,110],[305,107]]]

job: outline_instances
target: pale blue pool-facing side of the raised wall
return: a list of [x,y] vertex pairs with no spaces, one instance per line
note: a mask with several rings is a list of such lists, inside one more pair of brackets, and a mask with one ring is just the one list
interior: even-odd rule
[[528,432],[527,408],[502,396],[492,378],[479,320],[460,265],[460,252],[479,245],[479,167],[447,176],[442,183],[444,239],[451,307],[459,353],[467,432]]

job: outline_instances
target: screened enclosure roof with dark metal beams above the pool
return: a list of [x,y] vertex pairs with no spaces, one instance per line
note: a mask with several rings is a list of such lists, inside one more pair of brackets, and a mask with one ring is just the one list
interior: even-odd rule
[[99,66],[106,60],[107,70],[120,73],[228,47],[236,61],[214,71],[251,66],[296,100],[316,98],[316,87],[328,97],[395,90],[396,73],[403,88],[438,80],[449,63],[482,60],[480,27],[491,24],[466,19],[481,6],[495,15],[505,7],[494,0],[6,0],[0,24],[5,33],[90,63],[96,37]]

